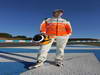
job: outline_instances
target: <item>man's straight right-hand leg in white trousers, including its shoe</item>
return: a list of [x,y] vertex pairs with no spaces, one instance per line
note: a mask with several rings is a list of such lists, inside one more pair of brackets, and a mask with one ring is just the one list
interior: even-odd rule
[[55,62],[58,66],[62,64],[64,59],[64,48],[68,42],[69,36],[58,36],[56,38],[57,50],[56,50],[56,59]]

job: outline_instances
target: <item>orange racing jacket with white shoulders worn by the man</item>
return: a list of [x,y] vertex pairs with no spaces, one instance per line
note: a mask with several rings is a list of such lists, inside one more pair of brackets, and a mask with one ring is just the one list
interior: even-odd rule
[[69,21],[62,18],[48,18],[40,26],[40,32],[46,33],[52,38],[72,34],[72,27]]

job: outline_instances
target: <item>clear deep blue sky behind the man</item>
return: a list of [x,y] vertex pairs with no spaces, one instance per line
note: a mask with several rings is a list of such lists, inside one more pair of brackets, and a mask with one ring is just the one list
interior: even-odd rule
[[99,0],[0,0],[0,32],[32,37],[55,9],[65,11],[72,38],[100,38]]

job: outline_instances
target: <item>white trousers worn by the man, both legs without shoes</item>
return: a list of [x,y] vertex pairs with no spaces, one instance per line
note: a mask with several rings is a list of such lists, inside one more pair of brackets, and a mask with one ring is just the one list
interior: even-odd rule
[[68,42],[69,39],[69,35],[67,36],[57,36],[56,38],[52,38],[51,43],[47,44],[47,45],[41,45],[40,46],[40,51],[37,55],[37,60],[40,61],[46,61],[47,59],[47,55],[48,55],[48,51],[51,48],[51,45],[54,41],[56,41],[56,58],[55,60],[63,60],[64,58],[64,48],[66,47],[66,44]]

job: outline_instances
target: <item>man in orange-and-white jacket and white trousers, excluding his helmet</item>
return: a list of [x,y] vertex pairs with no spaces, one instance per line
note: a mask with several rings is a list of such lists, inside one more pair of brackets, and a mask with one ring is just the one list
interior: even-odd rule
[[47,18],[42,22],[40,26],[40,32],[44,35],[48,35],[51,38],[51,42],[41,46],[40,52],[37,56],[36,64],[31,65],[29,69],[43,65],[47,59],[48,51],[50,50],[54,41],[56,41],[57,46],[55,64],[57,66],[63,65],[62,61],[64,59],[64,48],[66,47],[68,39],[72,34],[70,22],[61,17],[63,13],[63,10],[57,9],[53,11],[52,18]]

